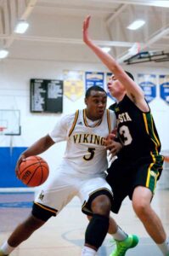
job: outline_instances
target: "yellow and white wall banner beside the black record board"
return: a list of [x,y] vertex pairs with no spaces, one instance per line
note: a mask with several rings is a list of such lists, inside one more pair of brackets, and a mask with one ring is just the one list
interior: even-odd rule
[[84,95],[83,72],[64,70],[64,95],[76,102]]

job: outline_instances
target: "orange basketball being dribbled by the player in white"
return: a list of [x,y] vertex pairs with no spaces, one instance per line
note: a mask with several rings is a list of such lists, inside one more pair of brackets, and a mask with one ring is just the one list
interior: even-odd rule
[[20,180],[29,187],[42,185],[47,180],[48,173],[48,163],[37,155],[25,158],[19,167]]

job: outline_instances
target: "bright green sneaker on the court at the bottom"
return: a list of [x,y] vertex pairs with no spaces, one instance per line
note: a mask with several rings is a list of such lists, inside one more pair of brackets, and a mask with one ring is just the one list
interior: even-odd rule
[[128,249],[136,247],[138,244],[138,236],[129,235],[124,241],[115,241],[115,250],[110,256],[124,256]]

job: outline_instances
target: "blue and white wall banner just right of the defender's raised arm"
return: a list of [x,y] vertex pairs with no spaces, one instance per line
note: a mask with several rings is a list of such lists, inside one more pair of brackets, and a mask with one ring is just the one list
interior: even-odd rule
[[138,73],[138,84],[144,90],[144,96],[146,101],[152,102],[156,97],[156,75]]

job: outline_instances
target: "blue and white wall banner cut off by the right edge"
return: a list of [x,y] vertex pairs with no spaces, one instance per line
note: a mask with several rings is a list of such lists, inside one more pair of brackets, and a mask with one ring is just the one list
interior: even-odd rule
[[161,99],[169,103],[169,75],[160,75],[159,84]]

